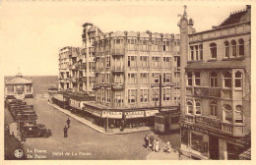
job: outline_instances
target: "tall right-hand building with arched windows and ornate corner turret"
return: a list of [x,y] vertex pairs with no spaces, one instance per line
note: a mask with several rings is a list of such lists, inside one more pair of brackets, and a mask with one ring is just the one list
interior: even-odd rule
[[195,32],[181,16],[181,151],[196,159],[238,159],[250,148],[251,8]]

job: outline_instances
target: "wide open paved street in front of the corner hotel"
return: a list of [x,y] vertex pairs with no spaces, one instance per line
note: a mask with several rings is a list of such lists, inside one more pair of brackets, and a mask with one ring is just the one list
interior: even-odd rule
[[[63,138],[63,128],[69,116],[48,105],[45,98],[34,99],[33,106],[38,116],[37,123],[44,124],[52,130],[53,134],[50,138],[27,139],[24,148],[27,155],[30,154],[33,158],[34,156],[44,157],[46,155],[46,159],[142,160],[147,159],[147,156],[152,152],[143,146],[145,135],[153,134],[151,131],[107,136],[70,118],[71,128],[68,131],[68,138]],[[179,140],[177,139],[179,137],[177,134],[164,136],[164,138],[164,140],[166,138],[172,139],[173,142],[176,142],[174,145],[178,146]],[[161,146],[164,145],[161,142],[163,137],[160,136],[159,139],[160,147],[163,147]],[[35,153],[34,149],[36,149],[37,153]],[[29,150],[32,150],[32,152],[29,153]],[[43,150],[46,150],[46,153]],[[70,155],[65,155],[65,153]]]

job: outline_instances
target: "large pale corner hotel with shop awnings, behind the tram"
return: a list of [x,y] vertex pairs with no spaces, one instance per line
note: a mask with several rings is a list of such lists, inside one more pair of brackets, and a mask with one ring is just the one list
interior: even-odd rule
[[[103,33],[91,24],[84,27],[86,58],[89,61],[95,58],[96,67],[96,103],[85,104],[85,111],[96,117],[98,125],[116,128],[121,124],[124,127],[153,125],[160,99],[165,110],[179,105],[178,34]],[[92,30],[98,31],[90,33]],[[90,74],[88,67],[87,63],[87,74]]]

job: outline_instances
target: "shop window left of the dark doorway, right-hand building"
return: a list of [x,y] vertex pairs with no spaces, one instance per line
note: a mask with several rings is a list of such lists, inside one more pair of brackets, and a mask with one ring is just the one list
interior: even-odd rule
[[204,141],[202,135],[191,133],[191,148],[200,153],[208,153],[208,143]]

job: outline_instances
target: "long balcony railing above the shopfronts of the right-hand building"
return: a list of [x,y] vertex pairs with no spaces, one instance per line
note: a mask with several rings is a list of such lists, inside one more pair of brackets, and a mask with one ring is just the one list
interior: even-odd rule
[[186,115],[185,122],[201,125],[210,129],[219,130],[223,133],[230,134],[232,136],[243,136],[244,126],[236,126],[230,123],[225,123],[220,119],[213,119],[206,116],[193,116]]

